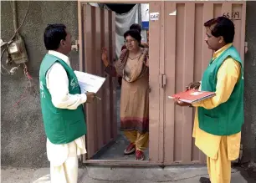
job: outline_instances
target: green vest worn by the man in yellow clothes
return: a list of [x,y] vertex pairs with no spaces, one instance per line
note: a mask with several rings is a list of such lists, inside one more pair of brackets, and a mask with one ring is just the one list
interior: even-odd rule
[[199,128],[212,135],[233,135],[243,125],[243,64],[236,48],[231,46],[211,60],[202,76],[202,91],[216,91],[218,69],[228,57],[241,64],[240,78],[228,101],[213,109],[198,108]]

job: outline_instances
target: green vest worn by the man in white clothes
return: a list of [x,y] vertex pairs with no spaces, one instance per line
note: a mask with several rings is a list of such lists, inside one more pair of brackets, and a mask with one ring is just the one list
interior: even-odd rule
[[77,109],[59,109],[54,107],[51,94],[46,86],[46,74],[51,66],[59,62],[69,78],[69,94],[80,94],[78,79],[73,69],[63,60],[51,54],[46,54],[40,66],[40,99],[47,138],[56,145],[67,144],[86,134],[83,105]]

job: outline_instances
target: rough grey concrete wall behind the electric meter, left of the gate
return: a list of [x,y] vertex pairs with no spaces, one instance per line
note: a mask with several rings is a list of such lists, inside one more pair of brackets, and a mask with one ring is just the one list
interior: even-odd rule
[[[27,11],[27,2],[17,3],[18,23]],[[26,85],[23,70],[13,76],[1,75],[1,160],[2,165],[44,167],[48,165],[45,150],[44,126],[38,97],[38,70],[46,50],[44,48],[44,28],[48,23],[64,23],[78,38],[77,2],[30,2],[28,17],[21,28],[28,51],[28,72],[33,77],[37,94],[32,89],[18,107],[13,107]],[[10,2],[1,1],[1,38],[9,40],[13,36],[13,14]],[[78,53],[71,53],[71,64],[79,67]],[[3,60],[4,61],[4,60]]]

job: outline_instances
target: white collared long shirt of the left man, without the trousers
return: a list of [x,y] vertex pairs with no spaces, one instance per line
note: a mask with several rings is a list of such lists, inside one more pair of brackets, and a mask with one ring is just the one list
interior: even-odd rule
[[[66,55],[52,50],[49,51],[49,54],[62,59],[70,67],[69,58]],[[56,108],[77,109],[80,104],[86,102],[86,94],[69,94],[69,78],[64,67],[59,63],[54,63],[47,72],[46,85]],[[59,166],[68,157],[76,157],[86,153],[85,135],[64,145],[54,145],[47,139],[46,148],[51,164]]]

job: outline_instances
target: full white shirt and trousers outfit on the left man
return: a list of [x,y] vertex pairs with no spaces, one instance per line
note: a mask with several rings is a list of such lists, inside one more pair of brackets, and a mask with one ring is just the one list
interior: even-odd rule
[[[62,59],[70,67],[66,55],[55,51],[49,51],[49,54]],[[46,84],[56,108],[77,109],[80,104],[86,102],[86,94],[69,94],[69,79],[64,67],[59,63],[53,64],[47,72]],[[77,183],[78,156],[86,153],[85,135],[64,145],[54,145],[47,139],[46,148],[50,161],[50,182]]]

